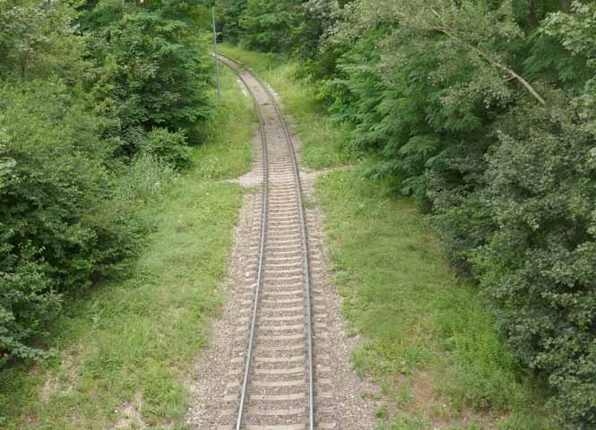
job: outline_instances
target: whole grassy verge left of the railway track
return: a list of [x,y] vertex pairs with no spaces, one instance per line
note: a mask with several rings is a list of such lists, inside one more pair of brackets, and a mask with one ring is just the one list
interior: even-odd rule
[[185,428],[242,200],[220,179],[246,171],[254,130],[251,101],[228,71],[223,89],[193,171],[135,203],[155,227],[130,276],[68,303],[54,357],[0,374],[3,429]]

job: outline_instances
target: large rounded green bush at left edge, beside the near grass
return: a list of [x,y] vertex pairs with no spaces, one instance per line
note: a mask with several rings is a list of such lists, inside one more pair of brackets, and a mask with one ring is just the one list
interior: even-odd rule
[[58,292],[114,276],[138,228],[114,201],[100,121],[61,82],[6,83],[0,111],[0,350],[31,357]]

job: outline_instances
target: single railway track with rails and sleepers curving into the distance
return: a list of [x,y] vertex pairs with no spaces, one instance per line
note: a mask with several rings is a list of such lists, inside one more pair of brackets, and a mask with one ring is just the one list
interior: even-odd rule
[[[230,357],[219,430],[334,428],[315,416],[315,366],[307,211],[298,159],[272,92],[227,57],[252,97],[261,133],[262,188],[255,226],[255,270],[246,273],[238,339]],[[320,335],[323,337],[323,335]],[[318,369],[318,370],[317,370]]]

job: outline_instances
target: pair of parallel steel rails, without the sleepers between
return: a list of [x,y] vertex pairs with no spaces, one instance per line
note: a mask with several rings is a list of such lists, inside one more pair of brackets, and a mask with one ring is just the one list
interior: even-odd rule
[[[222,56],[220,54],[220,56]],[[230,62],[234,64],[238,64],[233,59],[229,58],[229,56],[222,56],[227,58]],[[225,63],[224,63],[225,64]],[[226,64],[229,66],[229,64]],[[238,64],[239,65],[239,64]],[[261,128],[261,136],[263,142],[263,163],[267,161],[266,159],[266,137],[263,128],[263,115],[261,113],[261,108],[258,106],[258,102],[255,98],[255,94],[253,91],[248,87],[245,79],[241,76],[238,70],[235,70],[233,67],[229,66],[237,75],[238,78],[244,83],[246,90],[250,94],[251,98],[253,99],[253,103],[255,104],[255,108],[257,110],[259,116],[259,123]],[[251,73],[253,74],[253,73]],[[298,200],[298,211],[299,211],[299,219],[300,219],[300,230],[301,230],[301,248],[302,248],[302,262],[303,262],[303,271],[305,274],[305,295],[307,299],[306,303],[306,312],[307,312],[307,371],[308,371],[308,429],[315,430],[315,380],[314,380],[314,372],[313,372],[313,331],[312,331],[312,312],[311,312],[311,280],[310,280],[310,269],[309,269],[309,259],[308,259],[308,235],[307,235],[307,221],[306,221],[306,211],[304,208],[304,202],[302,200],[302,184],[300,181],[300,173],[298,169],[298,159],[296,157],[296,152],[294,150],[294,144],[292,142],[291,135],[289,134],[288,125],[286,120],[281,112],[281,108],[277,103],[277,100],[272,95],[271,90],[263,84],[263,82],[253,74],[253,78],[256,82],[263,88],[265,93],[267,94],[267,98],[271,101],[272,107],[275,109],[277,116],[280,118],[280,122],[283,128],[283,133],[286,136],[286,142],[288,143],[289,149],[289,156],[292,162],[292,171],[294,173],[294,183],[296,184],[296,195]],[[264,167],[264,171],[266,171],[266,166]],[[266,184],[266,180],[268,179],[268,172],[266,178],[264,177],[263,171],[263,182]],[[267,185],[264,185],[263,190],[263,200],[265,199],[265,193],[267,191]],[[265,204],[263,202],[263,208],[265,208]],[[250,332],[250,340],[248,346],[248,357],[246,359],[246,368],[245,368],[245,377],[244,382],[242,385],[242,392],[241,392],[241,399],[240,405],[238,407],[238,420],[236,425],[236,430],[241,430],[242,426],[242,417],[243,417],[243,410],[244,410],[244,403],[246,399],[246,387],[248,384],[248,376],[250,373],[250,359],[252,357],[252,348],[253,348],[253,340],[255,335],[255,325],[256,325],[256,312],[257,312],[257,305],[258,305],[258,291],[261,282],[261,273],[263,271],[263,249],[264,249],[264,240],[265,240],[265,229],[266,229],[266,213],[263,211],[263,231],[262,231],[262,242],[261,246],[259,247],[259,275],[257,279],[257,290],[255,293],[255,305],[253,311],[253,323],[251,325],[251,332]]]

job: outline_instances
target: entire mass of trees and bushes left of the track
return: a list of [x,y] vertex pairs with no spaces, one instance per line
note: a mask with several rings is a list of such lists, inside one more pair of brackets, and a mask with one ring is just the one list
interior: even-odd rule
[[[209,115],[198,1],[0,0],[0,368],[125,272]],[[145,202],[145,203],[143,203]]]

